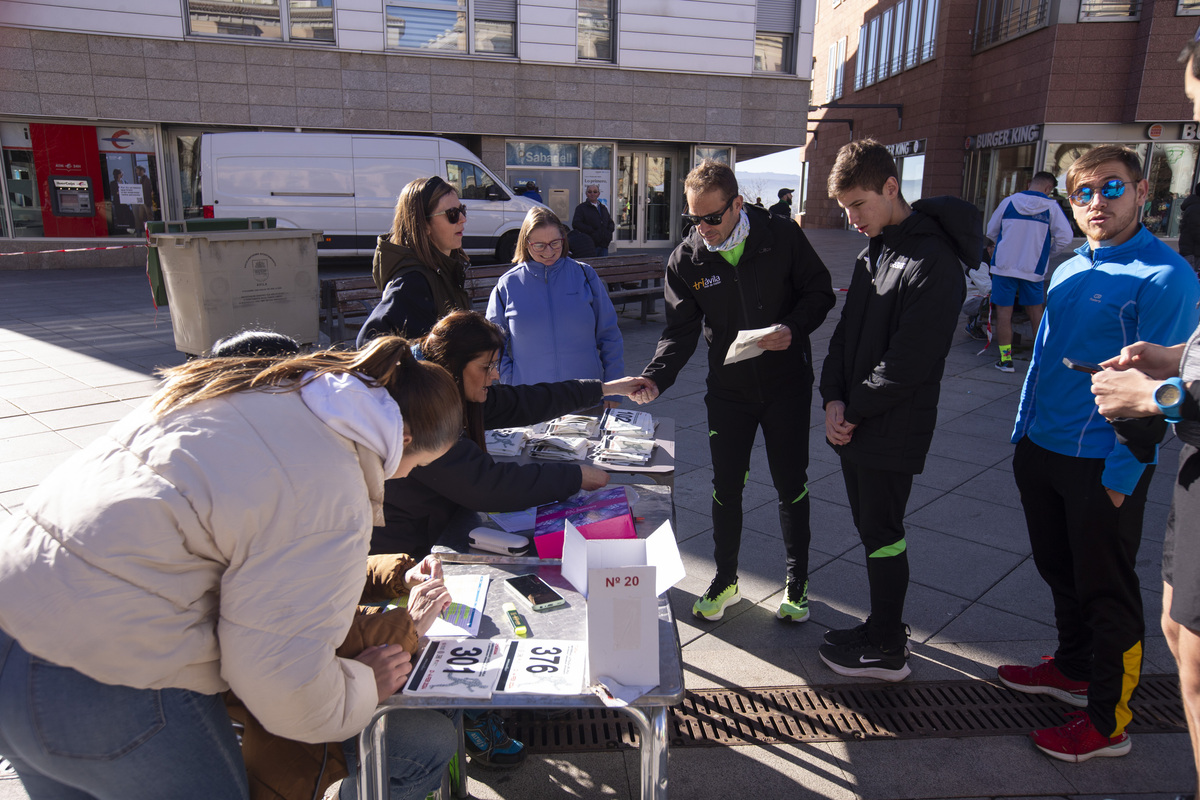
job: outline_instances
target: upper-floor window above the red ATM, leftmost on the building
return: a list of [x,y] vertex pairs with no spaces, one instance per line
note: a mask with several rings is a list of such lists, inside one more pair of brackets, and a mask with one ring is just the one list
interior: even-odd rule
[[197,36],[334,43],[334,0],[187,0]]

